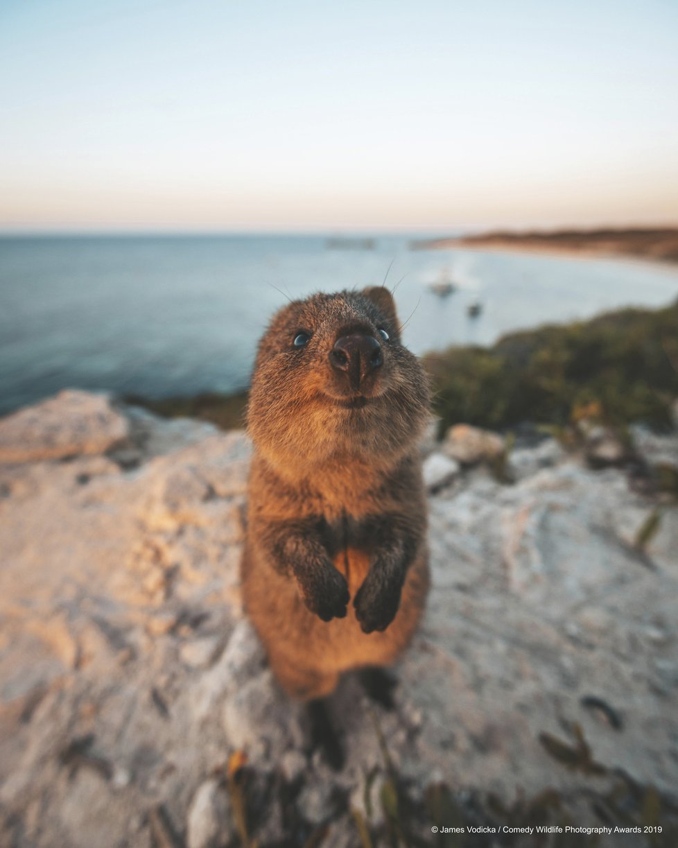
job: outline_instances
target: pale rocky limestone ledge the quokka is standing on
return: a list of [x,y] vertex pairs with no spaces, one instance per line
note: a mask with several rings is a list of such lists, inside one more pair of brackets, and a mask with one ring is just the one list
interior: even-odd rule
[[[636,440],[678,467],[678,433]],[[243,616],[243,433],[72,392],[0,421],[0,843],[380,845],[653,816],[668,833],[678,511],[637,468],[552,440],[498,482],[498,446],[467,428],[426,449],[425,622],[392,709],[352,675],[331,698],[333,771]]]

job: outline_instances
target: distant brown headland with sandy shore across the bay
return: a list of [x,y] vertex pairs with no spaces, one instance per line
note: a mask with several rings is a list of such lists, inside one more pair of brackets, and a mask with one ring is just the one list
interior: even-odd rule
[[630,256],[678,262],[678,226],[628,227],[592,230],[512,232],[495,230],[472,236],[436,238],[412,243],[412,248],[482,248],[534,250],[588,256]]

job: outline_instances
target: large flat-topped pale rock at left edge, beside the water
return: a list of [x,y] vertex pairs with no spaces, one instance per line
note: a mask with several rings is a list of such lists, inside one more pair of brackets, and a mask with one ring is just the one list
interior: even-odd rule
[[0,462],[103,454],[129,432],[107,395],[68,389],[0,420]]

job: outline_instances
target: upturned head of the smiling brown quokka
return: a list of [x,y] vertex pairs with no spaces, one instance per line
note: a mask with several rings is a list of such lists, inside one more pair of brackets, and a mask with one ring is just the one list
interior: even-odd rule
[[286,471],[351,457],[386,468],[419,438],[429,401],[386,288],[318,293],[270,322],[247,422],[257,449]]

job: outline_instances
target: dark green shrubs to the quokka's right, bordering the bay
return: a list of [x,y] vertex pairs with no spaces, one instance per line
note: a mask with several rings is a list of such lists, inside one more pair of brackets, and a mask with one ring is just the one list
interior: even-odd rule
[[568,427],[584,412],[613,427],[665,427],[678,395],[678,302],[514,332],[492,348],[452,347],[425,365],[443,427]]

